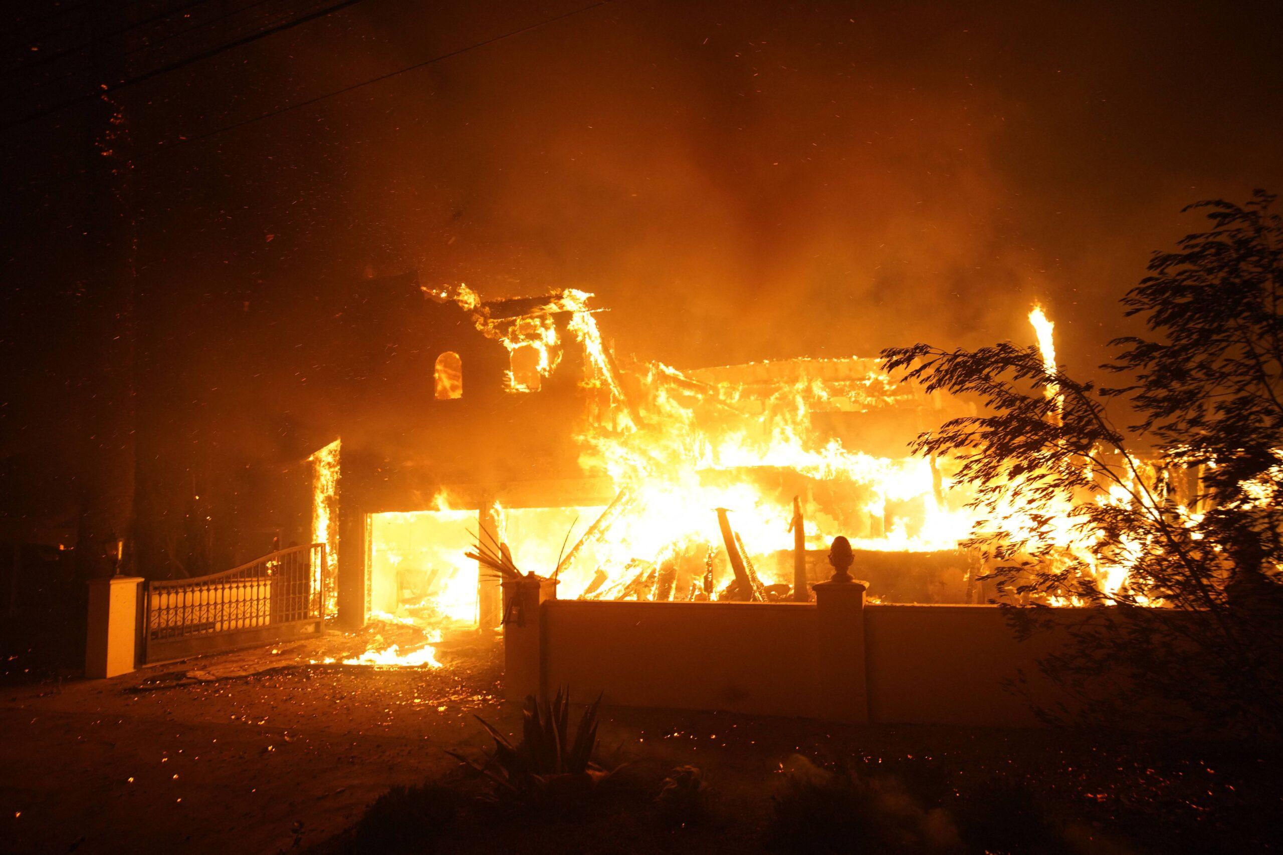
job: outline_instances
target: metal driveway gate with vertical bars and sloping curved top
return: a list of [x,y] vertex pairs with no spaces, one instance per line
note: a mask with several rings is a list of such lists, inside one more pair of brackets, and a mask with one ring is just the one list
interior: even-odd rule
[[149,581],[142,590],[145,661],[319,633],[325,559],[325,544],[310,544],[222,573]]

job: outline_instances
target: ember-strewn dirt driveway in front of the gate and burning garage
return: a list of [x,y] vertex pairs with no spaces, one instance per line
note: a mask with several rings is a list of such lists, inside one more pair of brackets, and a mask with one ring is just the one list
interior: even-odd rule
[[481,745],[473,713],[512,714],[493,656],[384,670],[310,655],[0,688],[0,852],[308,846],[389,786],[455,765],[441,749]]

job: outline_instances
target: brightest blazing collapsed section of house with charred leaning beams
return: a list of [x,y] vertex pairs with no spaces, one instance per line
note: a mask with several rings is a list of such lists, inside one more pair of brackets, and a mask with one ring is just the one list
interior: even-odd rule
[[[616,385],[615,418],[580,436],[585,467],[620,490],[581,541],[594,547],[593,574],[574,563],[579,550],[559,568],[581,596],[786,596],[799,540],[808,552],[837,535],[866,551],[929,552],[966,535],[935,461],[848,449],[843,433],[867,436],[870,414],[916,422],[934,409],[872,360],[690,373],[626,363]],[[734,581],[715,587],[726,569]]]

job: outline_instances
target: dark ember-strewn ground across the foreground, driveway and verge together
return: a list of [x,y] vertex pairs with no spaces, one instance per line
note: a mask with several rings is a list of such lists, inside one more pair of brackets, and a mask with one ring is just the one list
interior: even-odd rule
[[[404,851],[425,852],[824,851],[808,829],[849,804],[799,799],[789,782],[842,767],[878,810],[926,829],[892,851],[1250,852],[1283,840],[1278,756],[1260,747],[717,713],[606,709],[600,756],[622,768],[589,801],[491,802],[446,750],[489,747],[475,715],[520,728],[520,706],[499,700],[499,650],[457,637],[441,668],[341,664],[372,641],[6,686],[0,852],[371,851],[354,831],[370,806],[425,783],[367,831],[421,828]],[[672,815],[654,796],[681,765],[707,790],[702,810]]]

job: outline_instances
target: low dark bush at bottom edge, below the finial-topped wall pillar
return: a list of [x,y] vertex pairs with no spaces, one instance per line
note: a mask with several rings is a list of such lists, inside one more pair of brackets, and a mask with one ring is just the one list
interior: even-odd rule
[[960,843],[940,809],[925,810],[890,778],[860,778],[806,758],[790,761],[766,829],[779,852],[953,852]]

